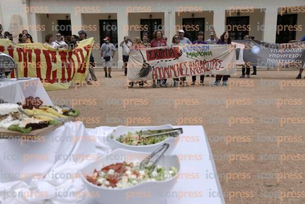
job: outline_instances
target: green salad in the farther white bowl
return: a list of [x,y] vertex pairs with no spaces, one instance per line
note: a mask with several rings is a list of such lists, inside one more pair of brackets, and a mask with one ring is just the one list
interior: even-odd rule
[[[165,130],[166,131],[166,130]],[[165,135],[160,135],[160,136],[152,136],[149,137],[149,135],[157,134],[157,133],[162,133],[162,130],[159,131],[137,131],[136,133],[131,133],[128,132],[127,135],[120,135],[120,137],[116,138],[116,140],[120,143],[123,144],[128,144],[128,145],[150,145],[150,144],[156,144],[159,142],[162,142],[166,140],[169,137],[172,137],[171,134],[165,134]],[[145,136],[145,137],[143,137]],[[146,137],[148,136],[148,137]],[[115,137],[113,135],[110,136],[111,139],[114,139]]]

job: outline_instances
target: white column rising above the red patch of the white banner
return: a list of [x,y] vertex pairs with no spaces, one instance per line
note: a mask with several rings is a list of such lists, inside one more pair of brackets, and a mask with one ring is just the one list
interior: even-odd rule
[[176,34],[175,30],[176,25],[176,11],[173,9],[169,9],[164,11],[164,35],[167,37],[167,44],[171,41],[174,34]]

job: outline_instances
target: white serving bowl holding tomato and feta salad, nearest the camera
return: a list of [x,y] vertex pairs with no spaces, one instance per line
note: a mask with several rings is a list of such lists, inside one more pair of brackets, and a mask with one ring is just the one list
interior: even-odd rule
[[87,190],[91,193],[94,192],[95,195],[99,195],[99,197],[96,196],[95,199],[100,204],[158,204],[166,199],[165,197],[162,197],[162,195],[166,195],[166,192],[170,192],[177,181],[177,177],[180,173],[180,162],[177,155],[163,156],[158,162],[158,164],[164,166],[165,169],[169,169],[170,166],[175,166],[178,169],[178,174],[174,178],[165,181],[145,181],[129,188],[112,189],[96,186],[86,179],[87,175],[92,176],[94,169],[100,171],[104,166],[113,163],[122,163],[124,161],[129,163],[135,160],[141,160],[141,158],[145,158],[149,154],[150,153],[117,149],[109,155],[85,166],[79,173]]

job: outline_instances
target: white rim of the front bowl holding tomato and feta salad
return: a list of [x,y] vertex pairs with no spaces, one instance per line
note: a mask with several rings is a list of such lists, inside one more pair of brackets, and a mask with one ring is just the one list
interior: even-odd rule
[[[151,153],[148,153],[148,152],[137,152],[137,151],[126,150],[126,149],[116,149],[116,150],[112,151],[110,154],[115,153],[115,152],[117,152],[117,151],[122,151],[122,150],[123,150],[123,151],[127,151],[127,152],[139,153],[139,154],[151,154]],[[107,155],[101,157],[99,160],[96,160],[96,161],[94,161],[94,162],[98,162],[98,161],[102,160],[103,158],[109,156],[110,154],[107,154]],[[177,155],[164,155],[164,156],[167,156],[167,157],[177,157],[177,159],[178,159],[178,156],[177,156]],[[94,163],[94,162],[93,162],[93,163]],[[88,165],[91,165],[91,164],[92,164],[92,163],[90,163],[90,164],[88,164]],[[179,159],[178,159],[178,164],[179,164],[179,166],[178,166],[178,167],[179,167],[178,173],[177,173],[173,178],[170,178],[170,179],[167,179],[167,180],[164,180],[164,181],[144,181],[144,182],[142,182],[142,183],[140,183],[140,184],[137,184],[137,185],[135,185],[135,186],[127,187],[127,188],[121,188],[121,189],[119,189],[119,188],[118,188],[118,189],[104,188],[104,187],[100,187],[100,186],[94,185],[93,183],[89,182],[86,178],[84,178],[83,174],[81,173],[81,171],[82,171],[83,169],[85,169],[88,165],[84,166],[81,170],[78,170],[78,172],[80,173],[82,179],[85,180],[84,182],[86,182],[87,184],[89,184],[89,186],[91,186],[91,187],[98,188],[98,189],[100,189],[100,190],[105,190],[105,191],[125,191],[125,190],[127,190],[127,189],[130,190],[130,189],[138,188],[138,187],[140,187],[140,186],[143,186],[143,184],[146,184],[146,183],[165,183],[165,182],[169,182],[169,181],[171,181],[171,180],[176,179],[177,176],[180,174],[180,170],[181,170],[181,166],[180,166],[180,161],[179,161]]]

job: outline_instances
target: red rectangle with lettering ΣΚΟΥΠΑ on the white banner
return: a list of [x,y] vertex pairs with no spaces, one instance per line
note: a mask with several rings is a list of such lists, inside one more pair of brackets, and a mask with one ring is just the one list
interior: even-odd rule
[[179,47],[146,50],[147,61],[179,58]]

